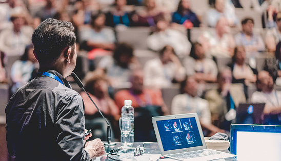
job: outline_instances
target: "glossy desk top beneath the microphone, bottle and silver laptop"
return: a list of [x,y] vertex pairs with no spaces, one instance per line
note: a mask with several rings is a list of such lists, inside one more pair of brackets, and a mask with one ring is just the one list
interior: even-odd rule
[[[124,150],[122,152],[118,152],[118,154],[121,154],[119,156],[116,155],[110,155],[113,158],[119,159],[119,160],[149,160],[151,155],[161,155],[158,143],[156,142],[135,142],[133,144],[133,147],[137,147],[140,145],[140,147],[143,147],[143,144],[145,144],[145,153],[140,156],[134,156],[134,150],[133,148],[129,150]],[[106,153],[108,153],[110,150],[113,148],[118,148],[121,146],[120,142],[116,142],[115,146],[105,146]],[[223,152],[230,153],[228,150],[222,150]],[[107,155],[103,155],[102,157],[97,157],[95,160],[112,160],[107,157]],[[226,158],[225,160],[227,161],[234,161],[236,160],[234,157],[233,158]],[[164,160],[165,161],[165,160]]]

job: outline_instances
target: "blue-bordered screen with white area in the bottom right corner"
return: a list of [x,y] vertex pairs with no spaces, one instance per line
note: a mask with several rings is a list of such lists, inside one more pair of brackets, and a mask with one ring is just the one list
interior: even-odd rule
[[230,151],[237,160],[281,160],[281,126],[231,124],[230,129]]

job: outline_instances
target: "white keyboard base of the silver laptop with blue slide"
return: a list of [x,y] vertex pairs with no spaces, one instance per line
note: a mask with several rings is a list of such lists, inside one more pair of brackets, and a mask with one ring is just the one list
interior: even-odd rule
[[222,152],[204,149],[204,150],[197,150],[197,151],[191,151],[185,153],[170,154],[169,156],[179,159],[185,159],[185,158],[209,156],[209,155],[220,154],[220,153]]

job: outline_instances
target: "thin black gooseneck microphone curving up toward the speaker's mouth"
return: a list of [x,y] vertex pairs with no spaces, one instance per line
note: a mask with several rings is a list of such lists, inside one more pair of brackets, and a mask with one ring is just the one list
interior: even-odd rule
[[111,146],[111,145],[116,145],[116,143],[112,143],[111,142],[111,128],[110,128],[110,124],[109,122],[107,121],[107,119],[104,117],[104,114],[102,113],[101,110],[98,109],[98,107],[96,106],[96,104],[94,103],[94,101],[92,100],[92,98],[90,97],[90,95],[87,93],[87,91],[84,89],[84,85],[83,83],[81,82],[81,80],[76,76],[76,74],[74,72],[71,73],[71,76],[73,77],[73,79],[75,80],[75,82],[78,84],[78,86],[80,88],[82,88],[85,93],[88,95],[88,97],[90,98],[90,100],[93,102],[93,104],[95,105],[97,111],[99,113],[101,113],[102,117],[104,118],[104,120],[106,121],[107,123],[107,131],[106,131],[106,135],[107,135],[107,143],[104,143],[104,145],[108,145],[108,146]]

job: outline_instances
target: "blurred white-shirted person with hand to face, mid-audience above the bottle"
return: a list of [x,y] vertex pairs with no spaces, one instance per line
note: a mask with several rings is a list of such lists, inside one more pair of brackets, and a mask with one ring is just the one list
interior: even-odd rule
[[144,73],[146,86],[163,88],[171,86],[173,82],[183,81],[186,72],[176,57],[173,47],[166,45],[159,51],[159,58],[145,63]]

